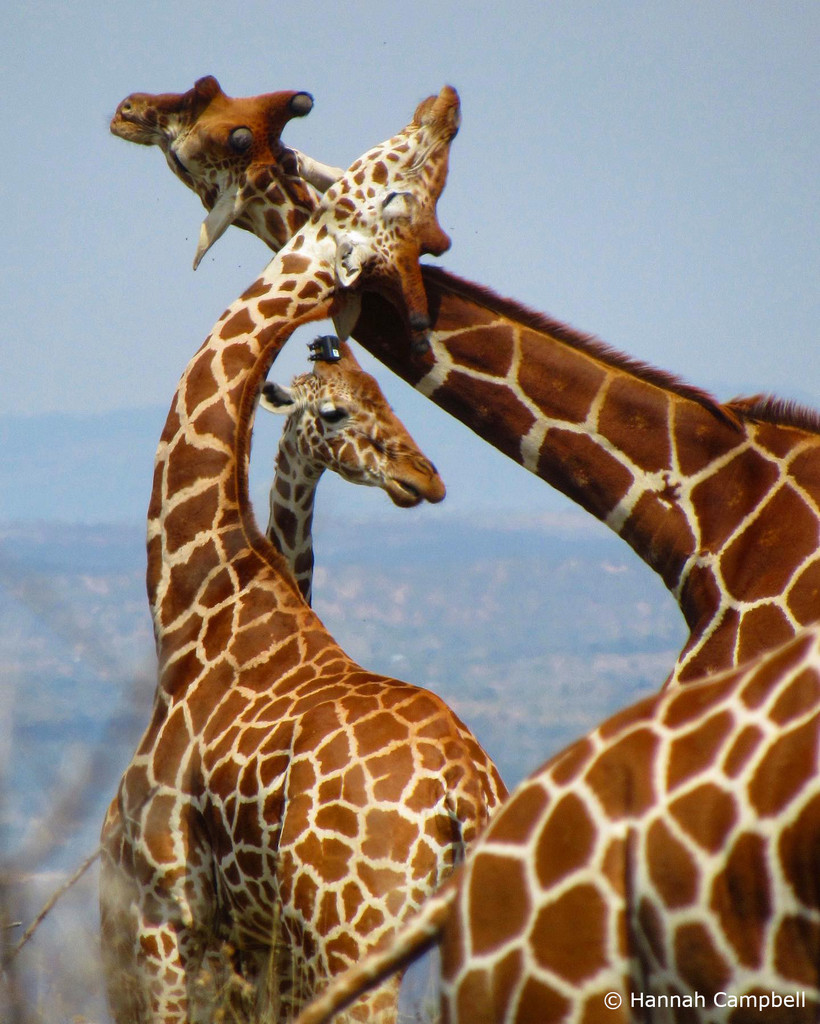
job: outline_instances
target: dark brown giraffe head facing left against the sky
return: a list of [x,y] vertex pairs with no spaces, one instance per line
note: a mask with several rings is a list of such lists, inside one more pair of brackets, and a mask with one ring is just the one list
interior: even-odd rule
[[280,248],[316,206],[297,154],[280,139],[285,125],[313,106],[307,92],[226,96],[213,76],[187,92],[133,92],[120,103],[112,132],[159,145],[168,166],[210,211],[200,232],[195,268],[232,223]]

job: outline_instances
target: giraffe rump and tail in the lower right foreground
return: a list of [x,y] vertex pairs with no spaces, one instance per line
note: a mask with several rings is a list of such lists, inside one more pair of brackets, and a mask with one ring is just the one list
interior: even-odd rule
[[819,769],[814,625],[551,758],[297,1024],[433,945],[444,1024],[817,1021]]

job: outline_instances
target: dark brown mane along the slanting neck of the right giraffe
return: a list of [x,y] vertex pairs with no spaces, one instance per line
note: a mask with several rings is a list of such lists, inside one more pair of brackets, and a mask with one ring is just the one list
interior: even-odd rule
[[533,331],[548,334],[562,344],[587,352],[601,362],[623,370],[639,380],[646,381],[664,390],[674,391],[684,398],[696,401],[719,419],[735,427],[742,420],[761,420],[780,426],[799,427],[803,430],[820,432],[820,413],[786,401],[782,398],[757,395],[753,398],[733,398],[722,403],[711,394],[692,384],[687,384],[674,374],[657,370],[640,359],[619,352],[594,335],[584,334],[546,313],[535,312],[515,299],[497,295],[483,285],[459,278],[440,267],[424,267],[425,278],[442,290],[463,296],[467,301],[499,313],[517,324],[523,324]]

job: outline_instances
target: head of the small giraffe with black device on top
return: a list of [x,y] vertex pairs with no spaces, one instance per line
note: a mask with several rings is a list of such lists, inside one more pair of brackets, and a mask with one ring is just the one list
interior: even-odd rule
[[[444,484],[350,347],[323,338],[311,346],[315,365],[290,387],[268,382],[260,406],[288,417],[283,446],[303,474],[326,469],[345,480],[381,487],[401,508],[440,502]],[[282,447],[280,447],[282,451]]]

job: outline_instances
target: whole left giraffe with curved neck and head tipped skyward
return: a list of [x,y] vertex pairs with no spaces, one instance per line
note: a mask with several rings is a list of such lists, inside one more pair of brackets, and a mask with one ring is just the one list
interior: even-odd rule
[[[238,1013],[287,1018],[421,905],[506,795],[443,701],[339,647],[248,497],[258,393],[298,326],[378,287],[422,331],[412,257],[448,243],[435,204],[458,124],[444,87],[354,162],[177,387],[148,507],[154,710],[102,828],[118,1024],[208,1019],[199,986],[228,948]],[[395,996],[390,982],[355,1019],[393,1021]]]

